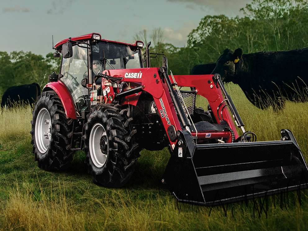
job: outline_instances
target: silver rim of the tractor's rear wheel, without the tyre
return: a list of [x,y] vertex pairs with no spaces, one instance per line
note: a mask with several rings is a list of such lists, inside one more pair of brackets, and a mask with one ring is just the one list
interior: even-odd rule
[[35,143],[38,151],[42,154],[47,152],[51,140],[51,119],[46,108],[38,112],[35,122]]

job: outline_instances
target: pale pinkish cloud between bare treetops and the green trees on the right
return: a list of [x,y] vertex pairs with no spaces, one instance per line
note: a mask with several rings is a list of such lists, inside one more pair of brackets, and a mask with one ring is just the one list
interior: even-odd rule
[[174,46],[183,47],[186,44],[187,36],[196,25],[193,22],[185,23],[179,29],[172,29],[170,27],[165,27],[164,37],[166,42],[172,43]]

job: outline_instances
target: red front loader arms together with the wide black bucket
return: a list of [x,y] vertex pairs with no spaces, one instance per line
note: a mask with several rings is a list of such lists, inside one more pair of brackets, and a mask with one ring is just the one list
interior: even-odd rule
[[[204,134],[213,134],[217,138],[226,135],[227,131],[196,131],[199,137],[194,137],[197,134],[187,125],[187,116],[183,118],[183,109],[176,105],[179,97],[174,95],[174,81],[178,86],[195,88],[214,111],[224,105],[225,98],[219,87],[224,87],[222,82],[215,84],[213,75],[175,75],[171,82],[164,68],[109,70],[105,73],[139,86],[128,90],[129,94],[146,91],[153,96],[171,146],[162,182],[179,201],[217,205],[307,188],[307,165],[293,134],[287,129],[281,130],[280,141],[233,143],[233,139],[227,138],[225,143],[198,144]],[[121,94],[126,96],[118,93]],[[129,96],[126,99],[129,101]],[[223,120],[213,114],[217,123],[222,124]],[[221,115],[238,138],[229,110],[222,110]],[[172,126],[175,137],[168,131]]]

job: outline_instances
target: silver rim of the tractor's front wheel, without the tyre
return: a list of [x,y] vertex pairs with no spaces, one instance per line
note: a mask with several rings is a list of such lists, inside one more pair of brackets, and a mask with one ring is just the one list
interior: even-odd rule
[[100,123],[96,123],[91,129],[89,149],[93,164],[98,168],[103,167],[109,153],[109,143],[106,130]]

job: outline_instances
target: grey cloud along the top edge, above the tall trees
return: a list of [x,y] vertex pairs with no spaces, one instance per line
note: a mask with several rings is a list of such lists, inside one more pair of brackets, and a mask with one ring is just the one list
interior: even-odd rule
[[252,2],[252,0],[167,0],[167,2],[186,3],[188,9],[206,10],[212,9],[217,14],[239,14],[239,9],[245,7],[246,4]]

